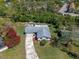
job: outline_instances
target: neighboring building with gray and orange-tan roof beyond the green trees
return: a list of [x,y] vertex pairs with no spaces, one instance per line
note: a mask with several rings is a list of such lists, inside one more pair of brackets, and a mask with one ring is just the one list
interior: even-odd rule
[[62,15],[79,16],[78,12],[75,12],[75,10],[75,4],[73,2],[65,3],[58,13],[61,13]]

